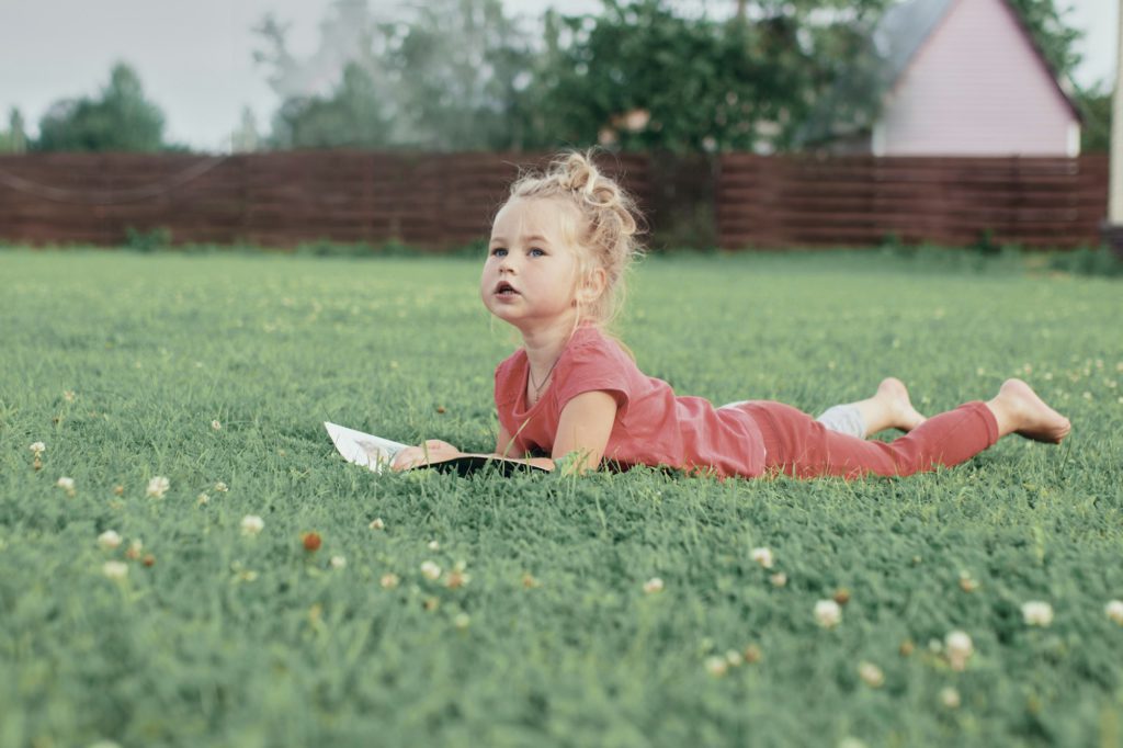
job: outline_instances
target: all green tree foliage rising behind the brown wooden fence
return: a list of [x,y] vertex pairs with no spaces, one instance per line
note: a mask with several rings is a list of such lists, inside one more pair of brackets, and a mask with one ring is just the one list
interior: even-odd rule
[[[1012,2],[1053,69],[1071,73],[1078,33],[1056,0]],[[875,117],[885,82],[870,38],[887,4],[602,0],[596,12],[532,19],[501,0],[398,10],[337,1],[305,58],[289,49],[283,21],[262,20],[254,56],[282,103],[265,137],[250,115],[232,140],[236,149],[794,149],[809,128]],[[1108,98],[1075,99],[1085,149],[1106,149]],[[100,97],[58,101],[39,127],[26,144],[13,119],[0,150],[177,148],[125,64]]]

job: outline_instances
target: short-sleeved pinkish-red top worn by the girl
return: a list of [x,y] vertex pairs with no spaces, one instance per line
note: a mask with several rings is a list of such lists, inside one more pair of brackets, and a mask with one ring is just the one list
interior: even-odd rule
[[583,392],[603,390],[617,401],[617,420],[604,459],[666,465],[720,476],[756,477],[764,472],[764,437],[740,408],[714,408],[703,398],[677,398],[663,380],[647,376],[619,344],[593,326],[574,332],[554,368],[554,378],[527,409],[527,352],[495,367],[499,421],[514,437],[514,451],[554,449],[562,410]]

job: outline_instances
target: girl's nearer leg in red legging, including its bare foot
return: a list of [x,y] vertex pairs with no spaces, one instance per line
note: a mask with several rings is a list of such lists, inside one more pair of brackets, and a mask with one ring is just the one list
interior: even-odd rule
[[768,468],[797,477],[911,475],[958,465],[1005,434],[1060,441],[1070,428],[1017,380],[1006,382],[994,400],[940,413],[891,444],[832,432],[782,403],[752,403],[748,410],[764,432]]

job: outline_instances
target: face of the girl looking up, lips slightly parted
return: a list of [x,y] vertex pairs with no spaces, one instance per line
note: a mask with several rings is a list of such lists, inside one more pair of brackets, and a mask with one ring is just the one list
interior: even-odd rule
[[581,248],[567,240],[566,220],[582,217],[556,198],[515,198],[495,216],[480,295],[489,311],[524,332],[575,322]]

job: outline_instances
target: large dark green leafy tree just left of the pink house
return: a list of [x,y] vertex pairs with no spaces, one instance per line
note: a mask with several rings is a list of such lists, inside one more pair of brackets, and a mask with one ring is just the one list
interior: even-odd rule
[[624,148],[789,147],[839,72],[868,54],[867,18],[880,0],[823,7],[769,0],[716,20],[669,0],[604,0],[597,16],[549,17],[533,86],[539,127]]

